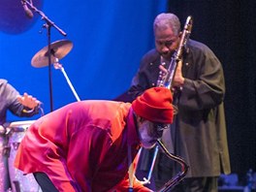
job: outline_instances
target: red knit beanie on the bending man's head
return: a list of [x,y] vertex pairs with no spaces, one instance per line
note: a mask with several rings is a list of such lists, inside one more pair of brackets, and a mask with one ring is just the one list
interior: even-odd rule
[[168,88],[153,87],[144,91],[132,103],[132,108],[146,120],[159,123],[172,123],[174,108],[173,95]]

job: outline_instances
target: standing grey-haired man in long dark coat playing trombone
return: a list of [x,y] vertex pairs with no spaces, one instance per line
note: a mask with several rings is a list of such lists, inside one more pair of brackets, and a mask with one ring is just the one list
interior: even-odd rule
[[[180,22],[173,14],[156,16],[153,29],[155,48],[145,53],[129,89],[134,99],[157,85],[159,66],[165,64],[168,68],[180,42]],[[218,176],[222,171],[231,172],[220,61],[206,45],[189,39],[183,48],[182,62],[177,65],[173,87],[178,113],[171,134],[163,135],[169,140],[163,142],[171,143],[171,152],[184,158],[190,167],[186,178],[173,191],[217,191]],[[179,169],[176,164],[168,164],[161,153],[159,156],[157,187],[173,176],[171,171],[176,175]]]

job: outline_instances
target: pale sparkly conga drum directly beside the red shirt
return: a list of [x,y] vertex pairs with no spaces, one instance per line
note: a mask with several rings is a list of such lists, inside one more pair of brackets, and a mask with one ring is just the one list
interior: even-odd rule
[[34,120],[12,122],[9,126],[9,146],[10,156],[8,158],[9,175],[12,183],[13,192],[39,192],[39,184],[32,174],[23,175],[23,173],[14,167],[16,159],[16,150],[21,140],[26,134],[27,128]]

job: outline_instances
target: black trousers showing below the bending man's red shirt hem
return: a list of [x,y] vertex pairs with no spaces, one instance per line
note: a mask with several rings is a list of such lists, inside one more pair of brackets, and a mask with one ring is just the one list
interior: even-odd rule
[[53,185],[48,175],[42,172],[36,172],[33,174],[40,185],[43,192],[58,192],[56,187]]

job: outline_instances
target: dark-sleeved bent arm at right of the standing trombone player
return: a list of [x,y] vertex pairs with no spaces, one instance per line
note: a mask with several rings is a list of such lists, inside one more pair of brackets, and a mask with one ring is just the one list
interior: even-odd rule
[[225,81],[221,63],[207,47],[193,52],[188,69],[185,69],[179,107],[187,110],[204,110],[219,105],[225,94]]

